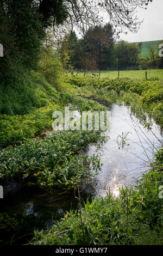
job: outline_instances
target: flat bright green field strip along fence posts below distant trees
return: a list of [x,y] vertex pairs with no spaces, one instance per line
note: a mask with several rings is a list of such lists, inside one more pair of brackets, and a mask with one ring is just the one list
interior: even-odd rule
[[[151,69],[151,70],[124,70],[120,71],[120,78],[128,77],[128,78],[138,78],[144,79],[146,78],[146,71],[147,71],[147,78],[158,77],[163,80],[163,70],[162,69]],[[86,72],[85,76],[92,76],[95,74],[98,76],[98,71],[88,71]],[[77,72],[74,72],[74,75],[77,75]],[[78,76],[84,76],[84,72],[78,73]],[[118,71],[101,71],[100,72],[101,78],[110,78],[114,79],[118,77]]]

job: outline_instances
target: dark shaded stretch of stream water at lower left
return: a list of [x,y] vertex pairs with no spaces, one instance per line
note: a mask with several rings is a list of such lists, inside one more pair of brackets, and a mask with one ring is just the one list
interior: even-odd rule
[[18,192],[4,198],[0,212],[26,214],[32,221],[33,230],[34,227],[49,228],[54,224],[53,220],[64,217],[71,208],[78,208],[78,200],[72,192],[55,189],[53,193],[47,193],[37,186],[30,187],[27,184]]

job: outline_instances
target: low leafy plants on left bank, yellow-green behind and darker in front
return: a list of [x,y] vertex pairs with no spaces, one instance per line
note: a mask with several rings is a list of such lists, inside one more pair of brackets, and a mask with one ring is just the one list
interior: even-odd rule
[[[73,158],[73,155],[77,154],[80,149],[85,148],[86,145],[102,140],[100,131],[53,132],[44,139],[35,138],[32,140],[28,138],[34,137],[43,130],[52,129],[52,113],[57,109],[63,111],[62,107],[68,105],[68,103],[78,106],[79,111],[100,111],[105,110],[105,107],[95,101],[71,94],[58,93],[56,95],[60,105],[53,103],[47,108],[39,108],[32,114],[22,116],[9,118],[7,115],[3,115],[1,120],[2,145],[4,146],[10,142],[21,142],[21,140],[24,140],[24,144],[1,150],[1,179],[8,176],[21,175],[26,177],[32,175],[36,176],[41,185],[51,186],[54,185],[53,180],[58,180],[58,177],[61,176],[65,180],[64,184],[67,185],[71,180],[70,172],[74,179],[74,173],[77,174],[76,172],[78,172],[79,175],[79,170],[83,171],[82,157],[79,157],[80,163],[78,166],[78,160],[76,157]],[[73,173],[74,163],[77,163],[78,169]],[[75,184],[74,180],[70,182],[73,185]],[[57,185],[56,182],[55,185]]]

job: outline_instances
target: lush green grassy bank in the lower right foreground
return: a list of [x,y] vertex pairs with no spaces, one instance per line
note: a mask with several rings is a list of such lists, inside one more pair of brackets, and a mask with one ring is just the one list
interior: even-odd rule
[[[143,175],[139,185],[122,188],[120,197],[89,200],[82,209],[86,245],[161,245],[162,199],[158,197],[162,184],[160,150],[153,169]],[[69,218],[53,225],[50,231],[35,231],[34,245],[83,245],[83,233],[78,211],[68,212]]]

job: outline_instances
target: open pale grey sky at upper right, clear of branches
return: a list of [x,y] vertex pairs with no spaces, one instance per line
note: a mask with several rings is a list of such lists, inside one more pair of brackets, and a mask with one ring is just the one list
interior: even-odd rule
[[121,34],[121,39],[129,42],[163,40],[163,0],[153,0],[147,10],[138,10],[138,16],[144,19],[139,31]]

